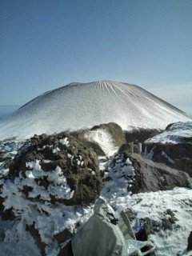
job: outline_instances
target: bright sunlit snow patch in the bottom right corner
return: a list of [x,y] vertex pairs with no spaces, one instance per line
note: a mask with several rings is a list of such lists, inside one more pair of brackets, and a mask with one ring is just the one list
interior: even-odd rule
[[[191,198],[192,190],[185,188],[134,194],[127,198],[126,206],[137,212],[137,218],[148,217],[161,223],[161,218],[165,217],[164,213],[167,209],[174,211],[178,221],[173,230],[160,229],[158,233],[150,234],[150,239],[156,246],[156,255],[174,256],[186,249],[187,238],[192,230]],[[119,204],[117,202],[117,205]],[[137,227],[137,220],[134,226]]]

